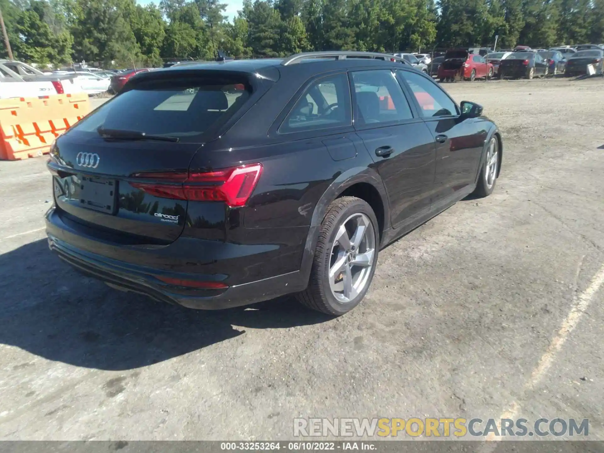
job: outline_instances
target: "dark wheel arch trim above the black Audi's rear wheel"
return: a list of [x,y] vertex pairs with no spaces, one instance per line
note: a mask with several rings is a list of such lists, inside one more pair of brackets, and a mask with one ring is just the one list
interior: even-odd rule
[[384,182],[379,174],[374,169],[367,167],[353,167],[339,175],[332,184],[329,185],[323,196],[315,205],[315,210],[312,213],[310,220],[310,228],[306,236],[304,244],[304,252],[300,265],[300,280],[307,284],[312,269],[312,260],[315,256],[316,242],[321,228],[321,223],[327,214],[327,208],[332,202],[338,198],[344,190],[359,182],[371,184],[382,198],[384,205],[384,231],[390,228],[390,204],[384,187]]

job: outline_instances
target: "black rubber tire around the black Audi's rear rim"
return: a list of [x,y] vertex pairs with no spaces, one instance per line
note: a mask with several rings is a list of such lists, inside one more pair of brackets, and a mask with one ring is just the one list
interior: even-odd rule
[[[332,294],[329,284],[329,265],[331,260],[333,243],[336,233],[342,223],[356,213],[365,214],[373,224],[375,234],[375,252],[373,266],[364,289],[348,303],[338,301]],[[356,307],[365,297],[373,280],[373,273],[377,263],[379,251],[379,230],[376,216],[370,205],[364,200],[356,197],[342,197],[332,202],[327,208],[327,213],[321,223],[319,237],[316,242],[315,256],[313,257],[312,270],[308,287],[296,295],[298,301],[306,307],[317,310],[328,315],[340,316]]]

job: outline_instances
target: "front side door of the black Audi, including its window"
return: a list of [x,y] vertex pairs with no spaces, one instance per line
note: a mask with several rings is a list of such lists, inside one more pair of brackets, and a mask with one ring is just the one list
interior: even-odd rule
[[454,101],[428,77],[399,71],[436,146],[433,203],[446,205],[474,184],[487,131],[485,121],[460,117]]

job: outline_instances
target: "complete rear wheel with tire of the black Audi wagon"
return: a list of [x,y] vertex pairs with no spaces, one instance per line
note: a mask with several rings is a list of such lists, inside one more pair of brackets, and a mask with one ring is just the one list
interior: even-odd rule
[[309,285],[297,298],[328,315],[343,315],[365,297],[379,249],[377,219],[367,202],[336,199],[321,223]]

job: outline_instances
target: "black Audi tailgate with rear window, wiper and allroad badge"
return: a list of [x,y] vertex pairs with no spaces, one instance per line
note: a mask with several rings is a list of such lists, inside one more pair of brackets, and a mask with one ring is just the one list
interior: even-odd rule
[[189,184],[199,184],[188,167],[204,133],[231,117],[250,91],[228,78],[175,76],[139,83],[98,108],[51,151],[54,199],[65,221],[114,242],[175,240],[187,222]]

